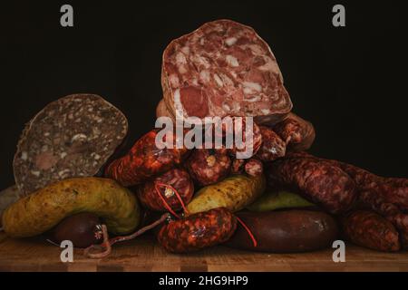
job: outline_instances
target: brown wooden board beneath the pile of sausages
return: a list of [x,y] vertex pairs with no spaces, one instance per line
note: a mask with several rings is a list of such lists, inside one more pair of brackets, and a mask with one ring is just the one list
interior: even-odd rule
[[345,263],[333,249],[303,254],[265,254],[213,247],[189,255],[165,252],[154,237],[113,247],[104,259],[88,259],[75,249],[73,263],[60,260],[62,248],[42,237],[11,239],[0,234],[0,271],[408,271],[408,253],[381,253],[347,245]]

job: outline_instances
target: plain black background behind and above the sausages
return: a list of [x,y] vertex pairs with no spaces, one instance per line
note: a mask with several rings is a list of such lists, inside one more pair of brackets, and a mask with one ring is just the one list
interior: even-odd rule
[[[74,26],[60,25],[73,5]],[[346,26],[332,25],[345,5]],[[210,20],[253,26],[277,57],[294,111],[314,123],[318,156],[407,177],[407,30],[401,2],[82,1],[2,5],[0,186],[24,123],[75,92],[102,95],[129,118],[131,141],[154,126],[161,53]]]

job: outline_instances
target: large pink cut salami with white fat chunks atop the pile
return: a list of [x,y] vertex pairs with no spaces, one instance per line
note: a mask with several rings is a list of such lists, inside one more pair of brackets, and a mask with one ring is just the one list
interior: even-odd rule
[[277,60],[249,26],[203,24],[163,53],[161,85],[171,115],[251,116],[276,122],[292,109]]

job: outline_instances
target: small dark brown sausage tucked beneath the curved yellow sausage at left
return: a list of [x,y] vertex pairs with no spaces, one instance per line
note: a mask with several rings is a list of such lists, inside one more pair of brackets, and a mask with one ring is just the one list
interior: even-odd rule
[[70,240],[73,247],[90,247],[102,243],[102,223],[96,215],[84,212],[64,218],[48,236],[58,245]]

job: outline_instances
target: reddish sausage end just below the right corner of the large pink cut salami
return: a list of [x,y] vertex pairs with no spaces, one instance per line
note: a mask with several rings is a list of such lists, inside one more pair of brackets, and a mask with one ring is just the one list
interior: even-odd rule
[[292,151],[308,150],[316,138],[313,124],[293,112],[284,121],[278,122],[273,130],[286,141],[287,149]]

